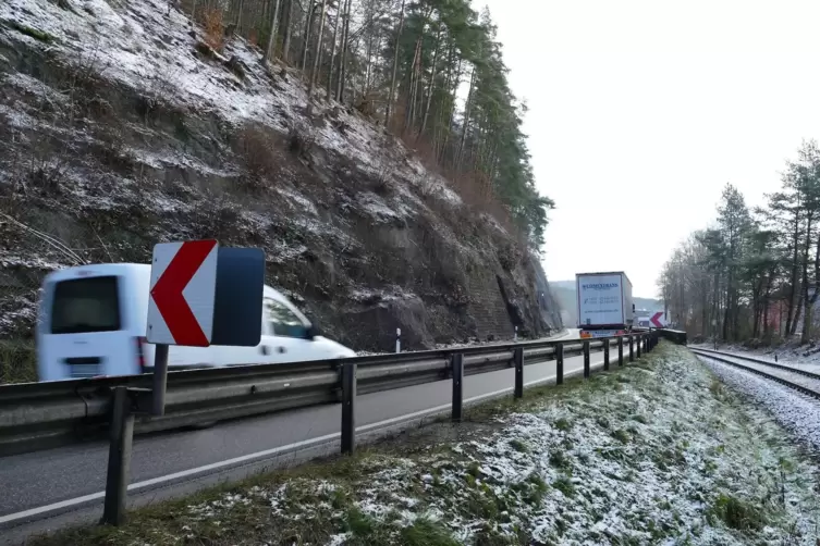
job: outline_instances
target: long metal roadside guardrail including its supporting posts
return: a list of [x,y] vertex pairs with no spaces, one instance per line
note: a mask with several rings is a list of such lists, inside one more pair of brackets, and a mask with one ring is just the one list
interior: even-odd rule
[[[619,364],[640,358],[658,333],[592,340],[519,342],[489,347],[376,355],[341,360],[255,364],[175,371],[168,374],[166,412],[149,415],[151,374],[0,386],[0,457],[68,446],[110,435],[109,480],[103,520],[118,523],[124,511],[127,454],[134,432],[152,432],[272,411],[342,404],[342,450],[355,444],[356,394],[376,393],[451,379],[453,419],[460,420],[463,376],[515,368],[516,397],[523,396],[524,367],[563,360],[601,348],[609,369],[616,342]],[[625,350],[628,352],[625,353]]]

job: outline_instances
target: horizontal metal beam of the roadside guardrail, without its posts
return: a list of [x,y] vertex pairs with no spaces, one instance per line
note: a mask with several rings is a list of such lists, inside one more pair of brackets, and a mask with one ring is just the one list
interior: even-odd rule
[[[510,368],[514,347],[526,364],[554,359],[558,342],[466,347],[377,355],[344,360],[236,365],[170,372],[166,414],[139,414],[150,394],[151,375],[98,377],[0,386],[0,456],[99,438],[108,424],[115,387],[131,393],[136,432],[304,408],[341,399],[342,363],[355,364],[357,392],[376,393],[451,376],[455,352],[465,374]],[[579,342],[564,342],[565,355],[579,355]],[[593,342],[599,348],[602,342]]]

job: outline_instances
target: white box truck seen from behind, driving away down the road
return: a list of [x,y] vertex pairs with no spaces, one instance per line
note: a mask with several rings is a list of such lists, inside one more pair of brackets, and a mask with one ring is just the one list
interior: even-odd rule
[[632,332],[635,303],[626,273],[578,273],[575,285],[582,339],[621,336]]

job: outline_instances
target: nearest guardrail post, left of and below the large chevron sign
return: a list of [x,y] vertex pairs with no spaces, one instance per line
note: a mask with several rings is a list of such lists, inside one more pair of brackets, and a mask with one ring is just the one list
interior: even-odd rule
[[106,502],[100,523],[120,525],[125,521],[125,496],[128,491],[131,446],[134,439],[134,413],[131,412],[127,387],[114,387],[113,392]]

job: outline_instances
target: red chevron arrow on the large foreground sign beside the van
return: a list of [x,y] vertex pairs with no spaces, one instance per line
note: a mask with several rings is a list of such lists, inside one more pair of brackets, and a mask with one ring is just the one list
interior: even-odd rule
[[183,243],[151,289],[151,298],[176,345],[193,347],[209,345],[208,337],[203,332],[199,321],[196,320],[182,291],[215,246],[217,246],[216,240]]

